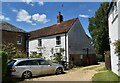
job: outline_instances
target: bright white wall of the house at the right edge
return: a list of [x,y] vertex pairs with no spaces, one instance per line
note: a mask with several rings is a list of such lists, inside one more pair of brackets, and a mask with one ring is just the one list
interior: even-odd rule
[[[118,26],[118,24],[120,25],[120,19],[118,19],[120,18],[120,11],[118,9],[120,8],[118,7],[120,6],[120,4],[118,4],[118,2],[120,2],[120,0],[117,0],[117,12],[115,13],[115,10],[113,11],[112,8],[109,12],[108,24],[109,24],[109,38],[110,38],[111,69],[114,73],[120,76],[120,67],[118,65],[119,57],[117,56],[117,54],[115,54],[115,46],[113,44],[116,40],[120,39],[120,26]],[[114,13],[114,18],[113,18],[113,13]]]

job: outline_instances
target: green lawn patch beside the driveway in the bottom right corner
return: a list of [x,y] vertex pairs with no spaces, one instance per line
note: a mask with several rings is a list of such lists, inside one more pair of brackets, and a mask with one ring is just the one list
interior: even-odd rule
[[116,83],[116,81],[118,81],[120,78],[114,74],[112,71],[110,70],[105,70],[102,72],[99,72],[97,74],[95,74],[92,78],[93,82],[100,82],[100,81],[112,81],[112,83]]

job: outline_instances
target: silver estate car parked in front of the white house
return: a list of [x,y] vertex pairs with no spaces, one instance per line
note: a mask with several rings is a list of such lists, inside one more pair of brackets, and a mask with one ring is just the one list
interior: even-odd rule
[[43,74],[61,74],[64,68],[60,64],[50,63],[41,58],[18,58],[8,63],[12,77],[30,78]]

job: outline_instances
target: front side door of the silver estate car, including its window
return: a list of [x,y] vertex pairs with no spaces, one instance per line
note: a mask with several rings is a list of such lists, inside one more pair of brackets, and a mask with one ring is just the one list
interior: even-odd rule
[[42,68],[42,74],[52,74],[55,72],[55,68],[46,60],[39,60]]

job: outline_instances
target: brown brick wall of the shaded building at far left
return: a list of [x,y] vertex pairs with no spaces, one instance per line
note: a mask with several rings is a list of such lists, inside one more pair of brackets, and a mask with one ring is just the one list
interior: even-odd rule
[[[21,35],[22,37],[21,45],[17,44],[18,35]],[[13,43],[18,50],[23,52],[26,52],[26,39],[27,39],[26,33],[2,31],[2,44]]]

